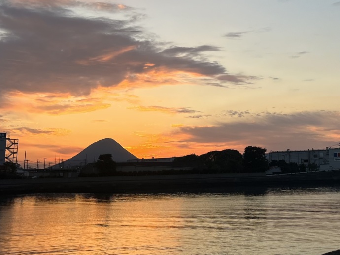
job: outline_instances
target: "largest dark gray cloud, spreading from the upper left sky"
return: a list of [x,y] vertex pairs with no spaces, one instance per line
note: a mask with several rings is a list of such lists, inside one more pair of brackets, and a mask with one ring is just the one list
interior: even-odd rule
[[[69,8],[120,13],[126,19],[79,16]],[[215,83],[242,83],[201,54],[217,47],[167,47],[134,24],[131,7],[73,0],[0,3],[0,90],[88,95],[98,86],[117,86],[153,68],[197,73]],[[152,65],[145,68],[145,64]],[[147,82],[147,81],[146,81]]]

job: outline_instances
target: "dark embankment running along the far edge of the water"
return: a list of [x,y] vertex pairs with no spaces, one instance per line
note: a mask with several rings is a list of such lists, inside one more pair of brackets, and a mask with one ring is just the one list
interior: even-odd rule
[[167,193],[238,191],[268,187],[340,186],[340,171],[265,176],[254,174],[190,174],[0,180],[0,193]]

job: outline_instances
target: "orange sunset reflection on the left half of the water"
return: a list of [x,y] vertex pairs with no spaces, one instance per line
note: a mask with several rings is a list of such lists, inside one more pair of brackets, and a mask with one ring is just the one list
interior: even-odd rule
[[178,211],[180,201],[167,204],[79,194],[51,200],[28,196],[0,211],[0,231],[6,233],[8,253],[114,254],[123,249],[135,254],[157,250],[160,242],[175,245],[181,223],[166,215]]

